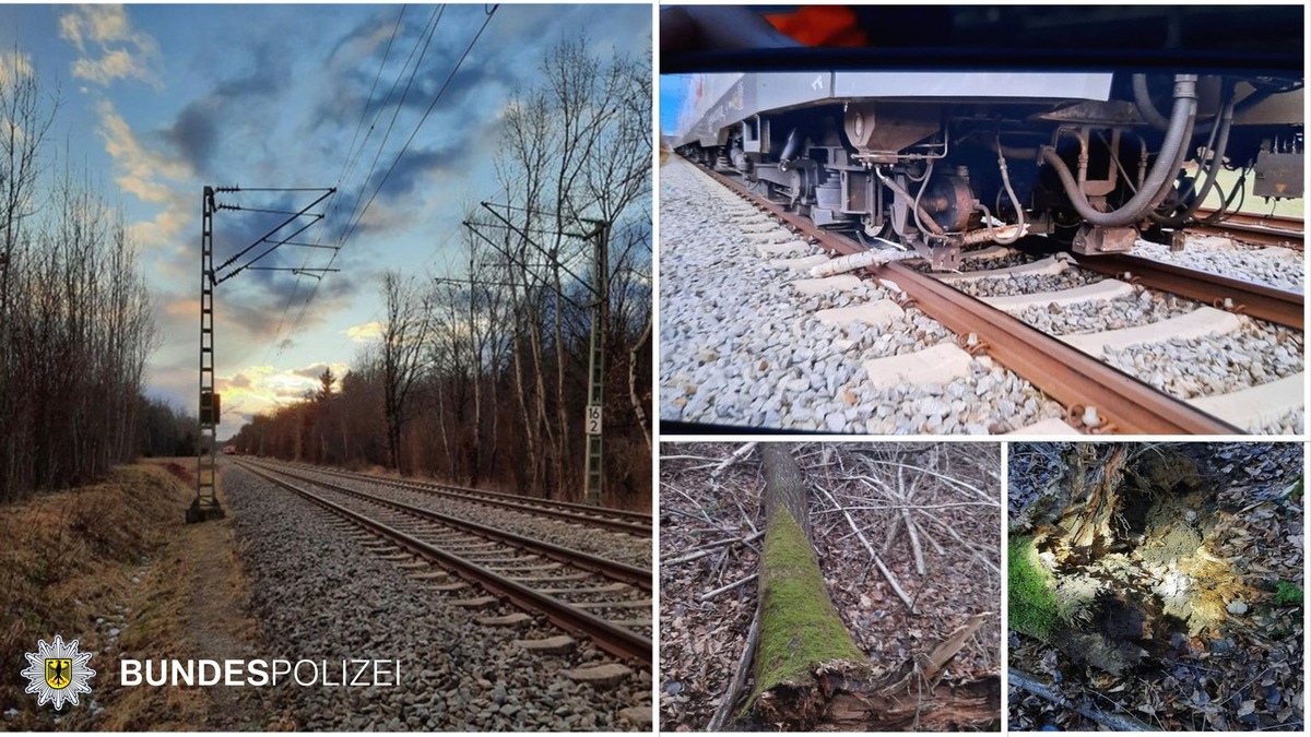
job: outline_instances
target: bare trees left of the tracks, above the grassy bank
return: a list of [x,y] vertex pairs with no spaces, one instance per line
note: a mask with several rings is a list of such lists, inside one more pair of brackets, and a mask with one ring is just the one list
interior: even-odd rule
[[126,219],[58,161],[59,102],[22,59],[0,58],[0,502],[143,450],[157,342]]

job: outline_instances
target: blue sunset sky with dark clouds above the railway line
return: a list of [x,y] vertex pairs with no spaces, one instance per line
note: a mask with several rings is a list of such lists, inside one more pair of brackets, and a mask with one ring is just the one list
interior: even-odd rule
[[[337,244],[358,218],[333,262],[341,271],[317,291],[315,278],[284,271],[219,285],[222,438],[299,397],[325,365],[349,368],[376,334],[384,270],[456,268],[461,203],[499,195],[490,134],[510,93],[535,84],[548,47],[579,33],[594,54],[644,59],[650,47],[646,4],[501,5],[420,126],[489,8],[0,5],[0,73],[35,73],[58,93],[51,156],[60,169],[66,157],[85,168],[131,223],[163,337],[153,396],[195,410],[205,185],[338,188],[299,241]],[[316,197],[219,202],[296,211]],[[219,212],[216,261],[282,219]],[[283,247],[261,264],[325,266],[330,254]]]

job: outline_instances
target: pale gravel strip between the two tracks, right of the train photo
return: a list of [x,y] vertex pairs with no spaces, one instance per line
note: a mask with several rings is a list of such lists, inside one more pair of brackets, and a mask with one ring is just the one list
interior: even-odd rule
[[1304,254],[1290,248],[1247,245],[1222,236],[1190,236],[1184,250],[1177,252],[1139,240],[1134,244],[1134,256],[1299,294],[1306,291]]

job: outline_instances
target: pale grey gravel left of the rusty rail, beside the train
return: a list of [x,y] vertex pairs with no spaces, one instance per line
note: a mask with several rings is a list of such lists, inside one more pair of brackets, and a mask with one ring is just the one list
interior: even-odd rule
[[[814,312],[891,290],[798,296],[806,273],[770,265],[726,216],[721,188],[691,164],[661,169],[662,420],[823,433],[988,434],[1063,416],[1013,372],[975,359],[947,386],[874,388],[864,362],[954,341],[910,308],[886,327],[822,323]],[[819,253],[810,248],[809,253]]]

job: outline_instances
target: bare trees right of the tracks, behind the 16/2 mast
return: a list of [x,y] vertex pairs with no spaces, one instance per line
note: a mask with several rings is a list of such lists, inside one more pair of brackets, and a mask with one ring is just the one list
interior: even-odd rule
[[583,494],[590,236],[604,233],[604,502],[650,505],[650,63],[551,50],[496,131],[501,194],[465,206],[459,258],[382,278],[380,334],[342,376],[257,416],[243,452]]

